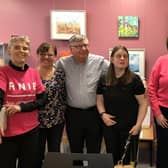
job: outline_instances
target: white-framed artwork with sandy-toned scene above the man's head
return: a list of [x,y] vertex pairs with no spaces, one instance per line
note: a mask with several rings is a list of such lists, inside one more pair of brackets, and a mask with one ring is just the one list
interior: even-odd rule
[[86,35],[86,11],[53,10],[50,24],[51,39],[68,40],[73,34]]

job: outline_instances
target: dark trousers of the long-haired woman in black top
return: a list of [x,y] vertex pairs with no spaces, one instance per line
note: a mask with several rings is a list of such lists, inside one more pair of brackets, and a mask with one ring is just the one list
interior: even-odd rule
[[[121,130],[115,126],[107,127],[104,125],[104,140],[107,153],[113,154],[114,164],[121,160],[124,154],[125,144],[129,136],[129,130]],[[129,164],[130,161],[137,161],[137,148],[139,135],[131,136],[130,144],[124,158],[124,164]]]

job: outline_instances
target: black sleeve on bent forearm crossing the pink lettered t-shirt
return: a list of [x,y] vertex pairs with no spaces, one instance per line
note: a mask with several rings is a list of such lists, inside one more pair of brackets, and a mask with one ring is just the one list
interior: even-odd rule
[[47,103],[47,93],[42,92],[36,95],[36,100],[28,103],[21,103],[21,112],[31,112],[33,110],[42,109]]

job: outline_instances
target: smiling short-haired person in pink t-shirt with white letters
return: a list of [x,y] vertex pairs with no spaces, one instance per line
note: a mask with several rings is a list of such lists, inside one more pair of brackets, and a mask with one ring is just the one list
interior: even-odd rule
[[[0,68],[0,109],[6,108],[7,128],[0,126],[0,166],[37,168],[38,109],[47,100],[36,70],[26,64],[30,41],[12,37],[8,44],[9,64]],[[1,125],[1,123],[0,123]]]

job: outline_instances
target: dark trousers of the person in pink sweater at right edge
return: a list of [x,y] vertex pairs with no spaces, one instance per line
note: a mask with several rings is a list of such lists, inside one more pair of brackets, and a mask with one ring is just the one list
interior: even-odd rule
[[[168,119],[168,108],[160,107],[162,114]],[[155,122],[156,123],[156,122]],[[157,168],[168,167],[168,128],[162,128],[156,123],[157,134]]]

